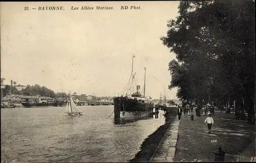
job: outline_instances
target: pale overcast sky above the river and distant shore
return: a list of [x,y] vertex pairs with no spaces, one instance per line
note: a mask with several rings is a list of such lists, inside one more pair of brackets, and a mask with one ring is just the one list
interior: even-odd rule
[[[120,10],[121,6],[140,10]],[[1,2],[1,77],[4,84],[46,86],[55,92],[96,96],[121,95],[131,74],[157,99],[168,90],[168,63],[175,54],[162,45],[166,24],[178,15],[178,1],[169,2]],[[63,11],[38,11],[63,6]],[[91,6],[94,10],[71,10]],[[114,10],[96,10],[112,6]],[[29,7],[29,11],[24,8]],[[36,10],[32,10],[36,8]]]

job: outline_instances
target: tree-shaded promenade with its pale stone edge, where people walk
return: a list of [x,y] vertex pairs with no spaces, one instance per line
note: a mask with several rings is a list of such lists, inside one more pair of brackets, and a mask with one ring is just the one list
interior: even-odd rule
[[[251,161],[256,156],[255,126],[247,121],[235,120],[232,114],[213,116],[215,123],[211,133],[204,124],[206,116],[190,116],[172,123],[166,131],[151,162],[214,161],[213,151],[218,147],[226,152],[225,161]],[[256,158],[254,158],[254,161]]]

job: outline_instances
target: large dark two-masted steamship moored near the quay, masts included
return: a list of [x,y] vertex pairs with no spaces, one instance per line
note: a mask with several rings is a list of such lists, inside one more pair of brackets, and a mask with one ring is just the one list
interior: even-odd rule
[[[135,56],[133,55],[133,60]],[[153,118],[153,106],[150,99],[145,98],[145,78],[146,68],[144,67],[144,94],[143,96],[139,92],[140,86],[137,86],[137,91],[134,90],[133,86],[135,83],[135,73],[133,74],[133,61],[132,61],[132,73],[129,78],[129,82],[126,85],[126,94],[124,96],[115,97],[114,101],[114,118],[132,118],[132,119],[144,119]],[[130,91],[130,94],[127,92]]]

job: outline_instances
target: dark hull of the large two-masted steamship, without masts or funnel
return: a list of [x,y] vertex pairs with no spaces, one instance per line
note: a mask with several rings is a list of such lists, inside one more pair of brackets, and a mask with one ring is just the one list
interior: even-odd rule
[[116,97],[114,98],[114,118],[153,118],[153,106],[153,103],[142,103],[126,97]]

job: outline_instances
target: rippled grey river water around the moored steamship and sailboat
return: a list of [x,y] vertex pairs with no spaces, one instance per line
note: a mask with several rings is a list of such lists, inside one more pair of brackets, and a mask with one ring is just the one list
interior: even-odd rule
[[114,123],[113,105],[1,108],[1,160],[25,162],[127,162],[148,135],[165,122],[158,119]]

